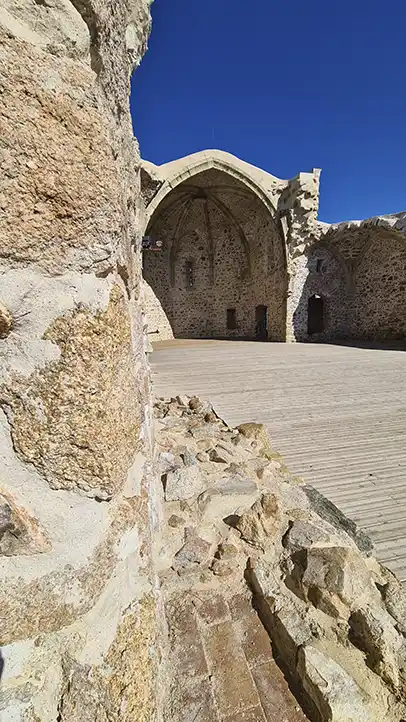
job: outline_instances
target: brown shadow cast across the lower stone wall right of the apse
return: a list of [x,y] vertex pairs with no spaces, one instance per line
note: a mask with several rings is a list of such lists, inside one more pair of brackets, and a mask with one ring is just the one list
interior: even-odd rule
[[308,253],[293,315],[296,339],[403,350],[406,243],[370,233],[361,250],[353,242],[345,258],[345,240],[319,243]]

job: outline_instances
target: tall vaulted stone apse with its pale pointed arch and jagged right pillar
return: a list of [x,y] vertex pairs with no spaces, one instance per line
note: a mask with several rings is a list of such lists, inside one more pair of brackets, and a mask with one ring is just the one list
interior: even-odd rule
[[144,276],[175,336],[255,338],[265,306],[268,339],[294,340],[295,279],[317,229],[319,177],[315,169],[280,180],[216,150],[160,167],[143,161],[145,232],[163,248],[144,254]]

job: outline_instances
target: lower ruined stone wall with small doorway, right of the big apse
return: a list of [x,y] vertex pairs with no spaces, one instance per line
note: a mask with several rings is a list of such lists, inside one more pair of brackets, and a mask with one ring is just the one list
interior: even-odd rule
[[[406,338],[404,214],[338,226],[320,224],[294,280],[298,340]],[[309,336],[308,303],[324,302],[324,331]]]

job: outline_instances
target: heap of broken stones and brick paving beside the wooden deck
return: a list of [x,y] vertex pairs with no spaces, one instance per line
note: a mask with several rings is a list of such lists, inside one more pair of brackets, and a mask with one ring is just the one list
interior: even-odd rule
[[369,539],[261,424],[231,429],[197,397],[155,415],[166,719],[404,722],[406,593]]

